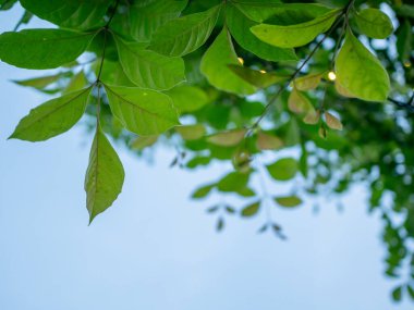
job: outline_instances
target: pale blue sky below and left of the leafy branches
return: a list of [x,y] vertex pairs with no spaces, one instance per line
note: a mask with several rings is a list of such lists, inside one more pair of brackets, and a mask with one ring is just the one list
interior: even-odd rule
[[[0,32],[20,13],[1,13]],[[188,199],[217,166],[188,173],[168,168],[170,152],[148,165],[121,149],[123,193],[87,226],[92,137],[75,127],[46,142],[7,140],[49,98],[9,80],[36,74],[0,63],[0,309],[413,309],[390,301],[380,221],[367,215],[362,188],[343,212],[277,210],[288,241],[240,219],[217,234],[208,204]]]

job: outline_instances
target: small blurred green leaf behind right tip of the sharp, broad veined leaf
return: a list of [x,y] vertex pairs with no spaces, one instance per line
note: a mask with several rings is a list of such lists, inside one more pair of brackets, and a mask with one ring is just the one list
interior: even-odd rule
[[171,97],[174,107],[181,113],[197,111],[210,102],[207,94],[196,86],[179,85],[166,94]]

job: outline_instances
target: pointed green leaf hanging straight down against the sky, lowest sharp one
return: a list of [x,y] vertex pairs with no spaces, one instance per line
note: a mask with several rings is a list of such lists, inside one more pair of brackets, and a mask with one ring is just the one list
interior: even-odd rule
[[98,125],[85,176],[89,224],[96,215],[111,207],[122,190],[124,177],[122,163]]

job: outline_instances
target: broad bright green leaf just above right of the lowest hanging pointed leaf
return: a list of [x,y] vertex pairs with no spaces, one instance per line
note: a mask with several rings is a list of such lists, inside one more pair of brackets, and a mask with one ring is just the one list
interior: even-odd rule
[[172,100],[165,94],[109,85],[105,85],[105,89],[113,115],[135,134],[158,135],[180,124]]

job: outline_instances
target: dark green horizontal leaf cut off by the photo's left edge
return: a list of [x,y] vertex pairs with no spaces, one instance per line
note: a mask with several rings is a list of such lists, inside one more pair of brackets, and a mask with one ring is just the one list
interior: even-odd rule
[[96,33],[27,29],[0,35],[0,60],[25,69],[52,69],[75,60]]

